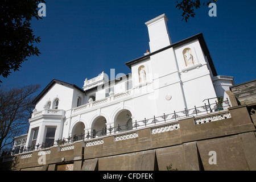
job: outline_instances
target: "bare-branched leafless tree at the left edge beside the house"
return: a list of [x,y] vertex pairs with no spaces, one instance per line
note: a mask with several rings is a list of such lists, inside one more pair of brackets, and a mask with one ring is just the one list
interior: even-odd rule
[[13,143],[13,138],[25,134],[28,119],[31,118],[32,104],[40,85],[28,85],[22,88],[0,88],[0,151]]

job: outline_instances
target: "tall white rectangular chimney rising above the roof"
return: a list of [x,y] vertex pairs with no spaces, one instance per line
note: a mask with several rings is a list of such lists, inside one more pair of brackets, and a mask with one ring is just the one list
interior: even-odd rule
[[167,22],[168,19],[166,14],[162,14],[145,23],[148,28],[148,35],[150,38],[150,52],[155,52],[161,48],[171,45]]

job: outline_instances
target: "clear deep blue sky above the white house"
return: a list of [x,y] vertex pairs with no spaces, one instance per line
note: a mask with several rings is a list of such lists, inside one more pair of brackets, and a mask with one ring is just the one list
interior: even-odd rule
[[46,0],[47,16],[32,20],[42,54],[29,57],[7,79],[1,77],[1,85],[40,84],[43,90],[56,78],[82,88],[85,78],[102,71],[130,73],[125,63],[150,49],[144,22],[163,13],[172,43],[202,32],[218,75],[233,76],[235,84],[254,80],[256,1],[219,0],[216,5],[217,17],[203,6],[186,23],[171,0]]

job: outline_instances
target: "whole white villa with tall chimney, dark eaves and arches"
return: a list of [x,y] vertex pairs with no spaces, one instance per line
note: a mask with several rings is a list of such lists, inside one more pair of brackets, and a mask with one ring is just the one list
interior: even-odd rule
[[[167,21],[163,14],[145,23],[150,52],[125,63],[131,73],[109,80],[102,72],[86,78],[82,89],[52,80],[34,101],[26,147],[137,130],[155,125],[160,121],[156,117],[175,122],[179,111],[185,111],[184,117],[197,115],[200,109],[195,106],[209,109],[217,97],[226,100],[233,77],[217,75],[203,35],[171,43]],[[168,118],[170,113],[174,114]]]

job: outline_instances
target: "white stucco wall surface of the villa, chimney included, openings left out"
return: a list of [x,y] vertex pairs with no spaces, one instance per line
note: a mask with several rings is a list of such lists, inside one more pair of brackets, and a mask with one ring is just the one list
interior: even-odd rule
[[[159,18],[160,17],[160,18]],[[147,24],[150,35],[151,52],[170,45],[166,18],[161,15]],[[163,32],[163,36],[159,36]],[[193,56],[193,64],[186,65],[184,50],[189,49]],[[146,80],[140,81],[139,73],[143,68]],[[174,111],[192,109],[194,106],[203,106],[203,100],[213,97],[221,97],[225,90],[233,85],[231,77],[215,77],[208,60],[206,59],[199,40],[183,42],[174,47],[168,47],[164,51],[137,61],[131,65],[131,75],[124,76],[121,81],[101,81],[105,85],[98,84],[98,79],[84,82],[85,93],[76,88],[59,83],[38,101],[36,110],[43,111],[47,102],[59,98],[60,113],[51,115],[43,111],[38,116],[34,115],[30,121],[27,145],[31,143],[32,130],[39,128],[38,142],[44,142],[47,127],[55,126],[55,139],[68,138],[82,131],[87,134],[93,129],[102,130],[102,127],[116,127],[118,123],[125,124],[131,118],[133,122],[142,121],[144,118],[153,118],[163,114],[171,114]],[[96,82],[93,82],[96,80]],[[104,80],[104,79],[103,79]],[[131,80],[133,88],[126,90],[126,82]],[[89,86],[86,84],[90,84]],[[93,86],[94,88],[93,88]],[[87,87],[86,87],[87,86]],[[103,86],[103,87],[102,87]],[[106,89],[114,87],[114,96],[105,96]],[[91,94],[96,94],[96,101],[89,103]],[[77,107],[77,98],[81,98],[81,106]],[[130,118],[126,118],[129,113]],[[106,120],[106,121],[104,121]]]

